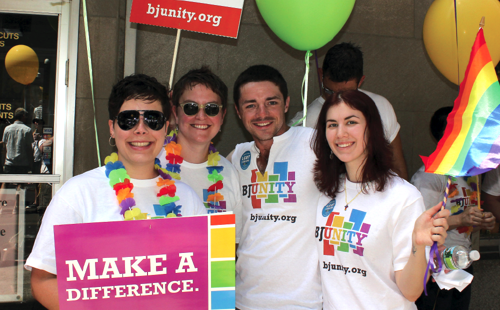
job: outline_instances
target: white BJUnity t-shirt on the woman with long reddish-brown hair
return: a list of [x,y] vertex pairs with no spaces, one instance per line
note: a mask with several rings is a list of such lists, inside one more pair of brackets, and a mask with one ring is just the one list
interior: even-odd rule
[[[418,190],[399,177],[383,192],[362,192],[345,210],[341,186],[335,198],[322,195],[316,211],[316,246],[323,309],[416,309],[396,285],[394,271],[411,253],[415,220],[424,211]],[[347,201],[361,191],[346,181]],[[415,281],[423,281],[422,278]]]

